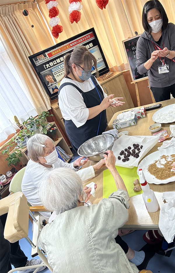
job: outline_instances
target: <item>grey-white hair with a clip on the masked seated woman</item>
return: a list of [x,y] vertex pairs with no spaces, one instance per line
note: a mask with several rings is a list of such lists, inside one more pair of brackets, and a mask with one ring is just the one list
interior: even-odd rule
[[42,134],[35,134],[28,139],[27,150],[29,152],[29,157],[32,161],[38,162],[38,157],[43,157],[44,155],[44,147],[34,144],[34,142],[45,145],[47,140],[51,140],[54,143],[54,141],[51,138],[49,138],[47,135]]

